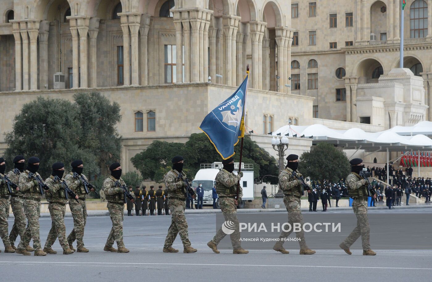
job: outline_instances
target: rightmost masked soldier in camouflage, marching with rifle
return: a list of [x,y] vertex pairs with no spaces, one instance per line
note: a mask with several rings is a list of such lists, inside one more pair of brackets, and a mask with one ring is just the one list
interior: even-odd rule
[[[353,198],[353,211],[357,217],[357,226],[346,237],[346,239],[340,243],[339,247],[347,254],[352,254],[349,250],[354,242],[362,236],[362,247],[364,256],[375,256],[376,253],[371,250],[369,244],[369,220],[368,220],[368,188],[366,183],[368,181],[359,175],[360,171],[363,170],[363,160],[356,158],[349,162],[351,164],[351,173],[346,176],[346,186],[348,187],[349,196]],[[372,195],[376,198],[376,194]]]

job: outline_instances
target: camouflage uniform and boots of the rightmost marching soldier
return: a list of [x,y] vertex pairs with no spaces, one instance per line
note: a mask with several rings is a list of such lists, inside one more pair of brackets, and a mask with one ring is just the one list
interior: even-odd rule
[[362,179],[357,173],[350,173],[346,176],[346,186],[348,186],[349,196],[353,198],[353,211],[357,217],[357,226],[342,242],[344,249],[349,249],[352,244],[362,236],[363,250],[370,250],[369,244],[369,220],[368,220],[368,191],[366,179]]

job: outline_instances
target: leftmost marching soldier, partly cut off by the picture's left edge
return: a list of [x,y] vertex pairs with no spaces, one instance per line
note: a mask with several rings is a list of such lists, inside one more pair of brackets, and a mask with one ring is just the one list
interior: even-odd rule
[[[9,189],[7,188],[6,180],[3,179],[4,172],[6,171],[6,163],[2,157],[0,157],[0,177],[2,178],[0,182],[0,237],[3,240],[4,252],[5,253],[15,253],[9,240],[9,232],[7,225],[7,218],[9,217]],[[10,187],[13,189],[13,187]],[[0,251],[1,252],[1,251]]]

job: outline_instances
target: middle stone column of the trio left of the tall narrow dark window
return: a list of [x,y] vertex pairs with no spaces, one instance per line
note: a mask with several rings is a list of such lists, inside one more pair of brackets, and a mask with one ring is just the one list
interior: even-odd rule
[[80,85],[79,88],[89,87],[89,42],[87,34],[89,32],[90,18],[78,18],[77,29],[79,33],[79,67],[80,71]]

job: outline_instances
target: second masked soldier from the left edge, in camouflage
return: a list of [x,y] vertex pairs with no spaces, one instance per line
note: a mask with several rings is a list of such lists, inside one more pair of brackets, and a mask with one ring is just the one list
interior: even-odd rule
[[[24,172],[24,166],[25,166],[24,156],[18,155],[14,157],[13,163],[15,166],[14,169],[8,172],[6,176],[10,180],[12,180],[12,182],[16,186],[19,186],[18,178],[19,175]],[[19,187],[17,187],[14,193],[11,195],[10,205],[12,207],[12,212],[13,212],[13,216],[15,217],[15,220],[13,222],[12,230],[10,231],[9,234],[9,240],[10,240],[10,244],[12,245],[12,248],[16,250],[16,247],[14,246],[15,240],[18,237],[18,235],[21,238],[24,236],[24,232],[26,230],[25,225],[27,224],[25,219],[25,214],[24,214],[24,198],[21,191],[19,190]],[[27,228],[29,227],[27,226]],[[30,245],[27,245],[25,247],[25,250],[27,250],[28,252],[32,252],[35,249],[33,249],[33,247],[30,247]]]

